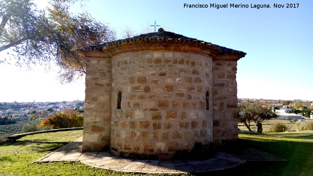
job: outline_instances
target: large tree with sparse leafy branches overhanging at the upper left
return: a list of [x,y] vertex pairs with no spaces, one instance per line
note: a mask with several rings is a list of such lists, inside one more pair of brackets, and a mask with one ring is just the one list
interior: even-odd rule
[[70,13],[77,1],[51,0],[40,10],[33,0],[1,0],[0,53],[7,51],[19,66],[59,65],[61,80],[84,75],[85,59],[76,49],[112,41],[115,32],[86,12]]

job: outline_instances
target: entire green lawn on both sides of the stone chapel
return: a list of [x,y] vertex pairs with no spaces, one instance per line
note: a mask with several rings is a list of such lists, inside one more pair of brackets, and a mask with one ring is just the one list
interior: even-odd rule
[[[272,133],[274,134],[274,133]],[[277,133],[283,137],[239,133],[239,143],[274,154],[288,162],[246,162],[236,168],[208,173],[171,175],[209,176],[311,176],[313,131]],[[0,143],[0,175],[167,175],[124,173],[93,168],[80,162],[34,163],[38,158],[82,136],[80,131],[43,133]],[[168,174],[170,175],[170,174]]]

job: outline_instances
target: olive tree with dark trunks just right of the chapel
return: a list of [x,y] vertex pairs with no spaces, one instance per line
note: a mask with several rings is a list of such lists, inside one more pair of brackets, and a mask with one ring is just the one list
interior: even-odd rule
[[277,118],[275,112],[268,106],[263,106],[260,103],[239,103],[238,104],[238,122],[243,123],[249,131],[250,122],[254,122],[258,127],[258,132],[262,133],[262,123],[264,120]]

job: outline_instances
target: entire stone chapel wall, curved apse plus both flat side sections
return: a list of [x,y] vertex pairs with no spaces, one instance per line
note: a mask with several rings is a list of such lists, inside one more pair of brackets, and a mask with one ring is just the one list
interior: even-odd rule
[[242,55],[166,41],[111,46],[80,50],[86,57],[83,151],[169,160],[236,142]]

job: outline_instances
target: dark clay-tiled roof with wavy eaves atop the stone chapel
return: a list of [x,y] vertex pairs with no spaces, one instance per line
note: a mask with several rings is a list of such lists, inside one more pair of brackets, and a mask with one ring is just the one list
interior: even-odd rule
[[[134,44],[134,43],[155,43],[155,42],[174,42],[174,43],[183,43],[183,44],[193,44],[198,45],[202,47],[207,47],[210,49],[214,49],[218,53],[222,54],[241,54],[246,55],[243,51],[234,50],[230,48],[226,48],[223,46],[219,46],[217,44],[212,44],[210,42],[204,42],[203,40],[197,40],[195,38],[189,38],[180,34],[175,34],[172,32],[164,31],[162,32],[162,28],[158,30],[158,32],[155,33],[147,33],[147,34],[140,34],[138,36],[134,36],[132,38],[127,39],[121,39],[121,40],[115,40],[112,42],[105,42],[103,44],[98,45],[91,45],[88,47],[83,47],[77,49],[78,52],[84,52],[84,51],[104,51],[105,49],[109,47],[119,47],[126,44]],[[161,31],[161,32],[160,32]],[[244,56],[243,56],[244,57]]]

